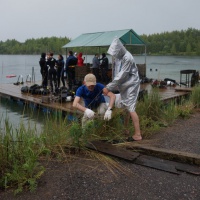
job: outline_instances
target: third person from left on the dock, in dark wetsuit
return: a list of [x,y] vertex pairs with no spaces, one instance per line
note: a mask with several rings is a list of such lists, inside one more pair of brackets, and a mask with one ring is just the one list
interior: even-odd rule
[[65,87],[64,66],[65,66],[65,62],[63,60],[63,56],[61,54],[59,54],[58,55],[58,60],[57,60],[57,81],[58,81],[58,88],[60,87],[60,79],[62,81],[63,86]]

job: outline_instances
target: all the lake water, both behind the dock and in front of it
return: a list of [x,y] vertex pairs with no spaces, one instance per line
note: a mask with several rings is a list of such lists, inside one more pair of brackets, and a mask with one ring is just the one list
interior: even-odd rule
[[[91,63],[93,55],[86,57],[86,62]],[[57,56],[55,56],[57,58]],[[134,56],[136,63],[144,64],[145,56]],[[14,83],[20,75],[35,75],[35,81],[41,80],[40,55],[0,55],[0,84]],[[111,57],[108,56],[111,62]],[[179,82],[180,70],[194,69],[200,71],[200,57],[189,56],[147,56],[146,57],[146,74],[148,78],[161,79],[171,78]],[[6,78],[7,75],[15,74],[14,78]],[[8,117],[12,124],[17,126],[23,121],[33,122],[33,126],[40,127],[44,119],[43,113],[37,111],[24,111],[23,106],[17,102],[4,101],[0,99],[0,117],[5,119]],[[35,113],[36,112],[36,113]],[[2,123],[3,120],[0,121]]]

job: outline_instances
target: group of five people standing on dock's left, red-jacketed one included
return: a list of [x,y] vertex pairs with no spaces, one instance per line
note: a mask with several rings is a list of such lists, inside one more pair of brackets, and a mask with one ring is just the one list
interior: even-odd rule
[[71,88],[75,84],[75,66],[83,66],[84,58],[82,53],[78,57],[73,55],[72,51],[68,52],[66,63],[61,54],[58,55],[57,60],[53,57],[53,53],[42,53],[39,61],[40,73],[42,75],[42,87],[51,87],[51,91],[60,88],[61,82],[63,87],[66,86],[66,76],[68,76],[68,86]]

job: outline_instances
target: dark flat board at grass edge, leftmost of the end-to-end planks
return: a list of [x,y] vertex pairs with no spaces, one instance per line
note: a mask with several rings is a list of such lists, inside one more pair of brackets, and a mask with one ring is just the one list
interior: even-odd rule
[[88,143],[86,147],[128,161],[134,161],[140,155],[139,153],[101,141],[93,141]]

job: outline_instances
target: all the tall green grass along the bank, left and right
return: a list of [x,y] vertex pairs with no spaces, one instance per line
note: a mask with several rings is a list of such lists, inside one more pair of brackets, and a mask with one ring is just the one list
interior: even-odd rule
[[[149,138],[163,126],[170,126],[178,118],[188,118],[195,108],[199,108],[200,89],[193,90],[189,99],[182,99],[179,104],[175,101],[164,103],[160,100],[157,90],[137,104],[140,127],[143,138]],[[40,159],[69,159],[71,152],[85,152],[104,162],[111,172],[114,168],[123,171],[119,163],[113,159],[88,151],[85,144],[93,140],[125,140],[123,109],[114,109],[110,121],[100,117],[90,121],[84,129],[80,119],[73,116],[74,121],[63,119],[60,112],[54,115],[46,114],[46,120],[40,134],[35,127],[21,122],[18,128],[12,127],[9,119],[1,120],[0,129],[0,188],[14,188],[15,194],[24,189],[34,191],[38,179],[45,172]],[[125,113],[126,114],[126,113]],[[3,118],[2,118],[3,119]],[[133,125],[127,127],[133,132]]]

